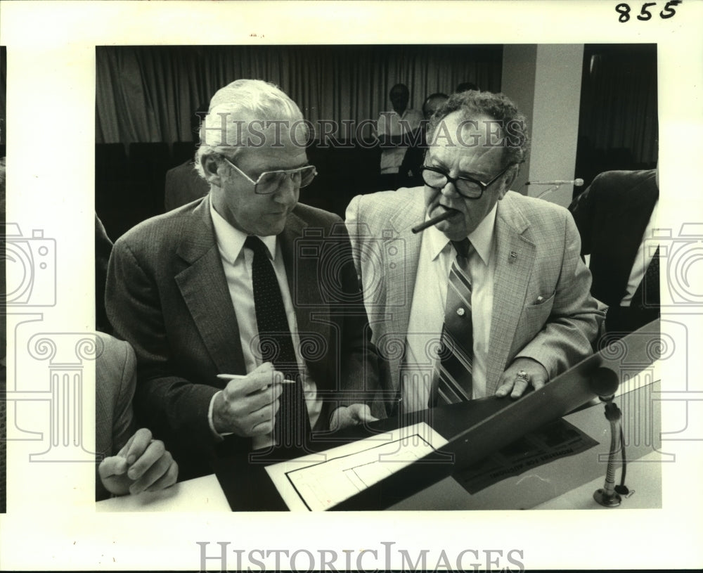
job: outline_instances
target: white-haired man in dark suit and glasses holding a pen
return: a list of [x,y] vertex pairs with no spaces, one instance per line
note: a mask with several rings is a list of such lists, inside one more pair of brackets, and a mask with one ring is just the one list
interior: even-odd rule
[[225,86],[195,155],[209,194],[115,243],[108,318],[136,352],[136,413],[181,478],[221,442],[275,455],[373,419],[352,404],[377,367],[346,228],[298,203],[316,175],[307,136],[276,86]]

